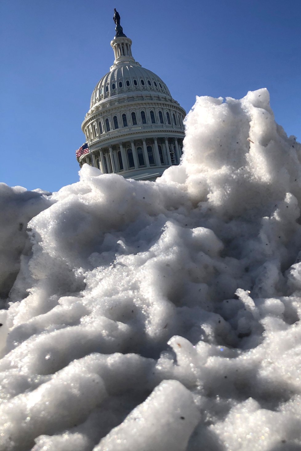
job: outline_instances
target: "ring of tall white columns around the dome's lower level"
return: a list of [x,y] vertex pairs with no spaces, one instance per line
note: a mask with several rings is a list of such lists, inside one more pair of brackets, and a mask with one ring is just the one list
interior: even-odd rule
[[[103,174],[115,174],[141,168],[177,165],[182,155],[181,146],[182,139],[173,137],[125,141],[115,146],[92,149],[93,166],[98,167]],[[82,162],[91,165],[88,155]]]

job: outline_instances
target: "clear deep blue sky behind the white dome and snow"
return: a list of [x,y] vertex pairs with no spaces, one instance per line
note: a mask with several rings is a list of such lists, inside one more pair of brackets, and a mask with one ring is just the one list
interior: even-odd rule
[[78,181],[81,123],[114,60],[114,8],[134,58],[187,112],[196,95],[267,87],[300,141],[300,1],[2,0],[0,181],[49,191]]

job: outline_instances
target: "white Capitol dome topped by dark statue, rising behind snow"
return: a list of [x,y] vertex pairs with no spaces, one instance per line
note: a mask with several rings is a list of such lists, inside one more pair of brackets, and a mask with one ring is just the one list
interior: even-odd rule
[[134,60],[132,41],[114,11],[115,60],[93,90],[82,124],[88,146],[77,151],[77,161],[103,174],[155,180],[180,162],[186,112],[162,79]]

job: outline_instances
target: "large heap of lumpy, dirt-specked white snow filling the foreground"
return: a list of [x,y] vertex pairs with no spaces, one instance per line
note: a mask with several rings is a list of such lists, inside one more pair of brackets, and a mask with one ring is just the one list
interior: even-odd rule
[[198,97],[156,183],[0,190],[0,450],[301,449],[301,145],[267,90]]

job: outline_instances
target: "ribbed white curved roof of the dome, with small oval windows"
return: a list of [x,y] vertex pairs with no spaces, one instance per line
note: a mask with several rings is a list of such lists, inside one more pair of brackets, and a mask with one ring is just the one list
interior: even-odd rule
[[91,96],[90,108],[103,99],[133,92],[143,94],[157,92],[171,97],[169,89],[160,77],[151,70],[141,67],[136,61],[127,61],[125,64],[112,66],[111,71],[99,80]]

